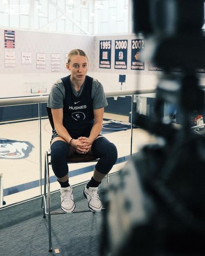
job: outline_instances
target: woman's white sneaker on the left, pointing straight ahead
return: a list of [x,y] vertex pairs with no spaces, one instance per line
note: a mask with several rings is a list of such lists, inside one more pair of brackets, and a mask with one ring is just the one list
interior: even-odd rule
[[75,210],[73,188],[61,188],[61,209],[65,213],[73,212]]

